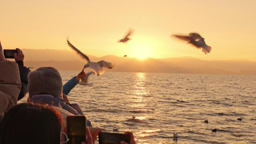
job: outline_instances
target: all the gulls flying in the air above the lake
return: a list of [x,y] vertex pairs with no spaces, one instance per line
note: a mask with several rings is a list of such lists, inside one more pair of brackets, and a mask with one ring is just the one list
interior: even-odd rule
[[[127,33],[127,35],[119,40],[118,42],[122,42],[122,43],[127,43],[129,40],[131,40],[129,38],[129,36],[132,34],[133,30],[129,30],[129,32]],[[202,52],[206,53],[210,53],[211,52],[211,47],[206,45],[204,38],[202,38],[198,33],[189,33],[188,36],[181,36],[181,35],[172,35],[178,39],[181,39],[183,41],[186,41],[187,44],[191,44],[192,46],[198,48],[198,49],[202,49]],[[92,86],[92,83],[88,83],[88,78],[89,75],[94,73],[97,74],[98,76],[100,76],[101,74],[103,74],[106,70],[106,68],[108,69],[112,69],[114,67],[114,64],[111,62],[107,62],[104,60],[98,61],[98,62],[92,62],[90,61],[90,59],[88,58],[88,56],[86,56],[84,53],[82,53],[79,49],[77,49],[76,47],[74,47],[69,40],[67,39],[67,44],[68,46],[73,49],[77,55],[80,56],[80,58],[82,58],[86,64],[83,66],[83,69],[89,67],[91,69],[91,72],[86,73],[86,77],[83,77],[81,79],[81,82],[79,82],[80,85],[88,85],[88,86]],[[124,55],[124,57],[126,57],[127,55]]]

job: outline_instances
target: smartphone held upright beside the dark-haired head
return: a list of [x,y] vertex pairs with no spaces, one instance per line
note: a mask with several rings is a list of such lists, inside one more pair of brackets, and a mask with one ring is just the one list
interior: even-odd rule
[[86,117],[67,116],[67,136],[69,141],[67,144],[81,144],[86,142]]

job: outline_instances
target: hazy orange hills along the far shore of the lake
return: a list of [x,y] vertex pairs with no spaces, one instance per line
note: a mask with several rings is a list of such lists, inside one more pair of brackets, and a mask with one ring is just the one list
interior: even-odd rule
[[[82,70],[83,62],[73,51],[22,49],[27,67],[53,66],[58,70]],[[107,55],[101,58],[88,55],[91,61],[106,60],[115,67],[108,71],[199,74],[256,74],[256,62],[246,60],[205,61],[191,57],[137,58]]]

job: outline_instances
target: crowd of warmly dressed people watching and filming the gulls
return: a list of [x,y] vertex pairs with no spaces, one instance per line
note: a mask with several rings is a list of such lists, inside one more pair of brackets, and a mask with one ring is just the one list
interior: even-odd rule
[[[84,115],[78,104],[71,104],[68,93],[85,72],[80,72],[63,85],[54,67],[34,71],[24,66],[24,54],[16,49],[15,62],[4,58],[0,43],[0,144],[65,144],[66,117]],[[26,103],[17,101],[28,93]],[[94,144],[100,128],[92,127],[87,117],[86,142]],[[132,132],[125,132],[135,144]],[[124,141],[121,144],[127,144]]]

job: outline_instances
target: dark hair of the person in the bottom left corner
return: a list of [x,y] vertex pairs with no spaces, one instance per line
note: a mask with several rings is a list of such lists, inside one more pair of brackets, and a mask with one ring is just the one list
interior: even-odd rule
[[62,118],[48,105],[22,103],[0,125],[0,144],[60,144]]

